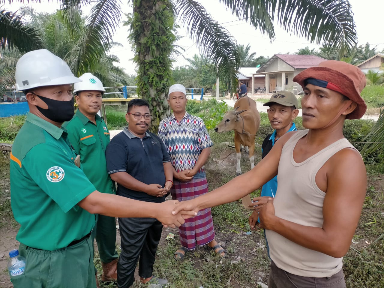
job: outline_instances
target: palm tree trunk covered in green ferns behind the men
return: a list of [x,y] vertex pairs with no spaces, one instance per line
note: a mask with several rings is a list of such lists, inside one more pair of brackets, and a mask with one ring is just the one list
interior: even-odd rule
[[170,115],[167,94],[171,78],[171,54],[176,40],[174,11],[168,0],[134,0],[131,39],[134,40],[137,95],[149,102],[152,131]]

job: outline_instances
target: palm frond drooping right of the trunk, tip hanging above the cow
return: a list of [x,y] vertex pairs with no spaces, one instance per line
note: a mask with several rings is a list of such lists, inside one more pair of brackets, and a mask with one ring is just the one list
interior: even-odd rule
[[176,0],[176,11],[191,38],[198,40],[197,46],[212,61],[220,79],[228,86],[237,86],[237,70],[240,59],[236,40],[230,33],[212,20],[210,14],[194,0]]

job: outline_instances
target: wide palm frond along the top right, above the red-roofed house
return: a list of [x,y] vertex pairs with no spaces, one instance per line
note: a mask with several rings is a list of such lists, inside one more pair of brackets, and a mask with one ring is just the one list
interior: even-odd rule
[[234,15],[275,38],[273,20],[311,42],[345,52],[356,44],[356,26],[347,0],[219,0]]

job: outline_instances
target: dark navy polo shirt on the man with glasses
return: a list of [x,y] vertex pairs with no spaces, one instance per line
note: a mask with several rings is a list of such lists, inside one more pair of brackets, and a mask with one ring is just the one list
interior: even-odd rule
[[[140,182],[164,187],[166,177],[163,163],[170,162],[170,158],[164,143],[155,134],[146,132],[144,138],[140,138],[124,128],[109,142],[105,156],[108,174],[127,172]],[[165,197],[131,190],[119,183],[116,195],[146,202],[165,201]]]

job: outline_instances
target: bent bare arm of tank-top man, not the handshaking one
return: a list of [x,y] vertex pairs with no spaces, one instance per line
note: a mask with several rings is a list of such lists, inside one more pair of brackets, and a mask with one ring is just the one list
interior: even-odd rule
[[328,163],[323,226],[310,227],[276,217],[273,201],[260,209],[262,227],[312,250],[343,257],[351,245],[366,194],[366,169],[360,154],[343,149]]

